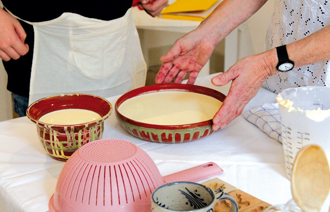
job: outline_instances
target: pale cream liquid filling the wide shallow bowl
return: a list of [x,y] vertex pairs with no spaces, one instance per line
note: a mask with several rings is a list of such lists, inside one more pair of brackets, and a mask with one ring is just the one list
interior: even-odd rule
[[135,121],[180,125],[212,119],[222,102],[208,95],[184,91],[161,91],[127,99],[118,111]]

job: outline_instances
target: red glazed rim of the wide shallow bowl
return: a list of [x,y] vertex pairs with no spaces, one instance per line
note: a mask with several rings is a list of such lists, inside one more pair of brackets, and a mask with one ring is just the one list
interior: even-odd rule
[[118,108],[122,102],[125,100],[142,95],[147,93],[153,93],[153,92],[161,92],[161,91],[186,91],[186,92],[194,92],[194,93],[200,93],[204,95],[211,96],[213,98],[216,98],[223,102],[224,98],[226,97],[223,93],[214,90],[209,87],[194,85],[194,84],[153,84],[153,85],[147,85],[143,87],[139,87],[133,90],[130,90],[123,95],[121,95],[114,105],[115,115],[117,118],[130,123],[135,126],[145,127],[145,128],[155,128],[155,129],[187,129],[187,128],[195,128],[200,126],[206,126],[212,125],[212,119],[196,122],[196,123],[189,123],[189,124],[179,124],[179,125],[159,125],[159,124],[150,124],[150,123],[143,123],[139,122],[130,118],[127,118],[126,116],[122,115]]

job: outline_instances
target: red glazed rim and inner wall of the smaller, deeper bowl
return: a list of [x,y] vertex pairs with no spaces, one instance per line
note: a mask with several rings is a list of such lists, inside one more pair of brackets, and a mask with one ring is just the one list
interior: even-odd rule
[[[82,97],[86,98],[87,100],[86,99],[83,100]],[[79,100],[79,104],[67,103],[73,98],[77,98]],[[94,102],[95,104],[93,104],[93,106],[91,104],[87,106],[88,103],[93,103],[91,100],[95,100],[96,103]],[[41,108],[43,109],[41,110],[38,109],[38,106],[41,106]],[[98,113],[101,117],[96,120],[85,123],[67,124],[67,125],[49,124],[38,120],[42,115],[60,109],[88,109]],[[105,98],[102,98],[100,96],[93,94],[86,94],[86,93],[62,93],[62,94],[47,96],[34,101],[27,107],[26,116],[31,121],[33,121],[38,125],[51,126],[51,128],[64,128],[64,127],[85,128],[104,121],[104,119],[109,117],[111,112],[112,112],[111,103]]]

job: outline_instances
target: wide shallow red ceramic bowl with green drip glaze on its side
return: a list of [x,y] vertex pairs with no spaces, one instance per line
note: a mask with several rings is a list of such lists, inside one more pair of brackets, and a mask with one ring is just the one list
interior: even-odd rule
[[182,125],[157,125],[132,120],[118,111],[120,104],[129,98],[161,91],[195,92],[214,97],[220,101],[225,98],[225,95],[217,90],[191,84],[155,84],[136,88],[120,96],[114,106],[117,120],[128,133],[153,142],[181,143],[193,141],[214,132],[211,128],[212,119]]

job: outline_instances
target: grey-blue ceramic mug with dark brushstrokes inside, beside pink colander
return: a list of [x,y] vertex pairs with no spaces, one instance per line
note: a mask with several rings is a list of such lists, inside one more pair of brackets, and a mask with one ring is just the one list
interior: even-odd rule
[[213,212],[219,200],[230,200],[229,212],[237,212],[234,198],[222,188],[212,190],[195,182],[170,182],[156,188],[151,195],[151,212]]

